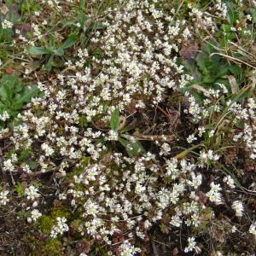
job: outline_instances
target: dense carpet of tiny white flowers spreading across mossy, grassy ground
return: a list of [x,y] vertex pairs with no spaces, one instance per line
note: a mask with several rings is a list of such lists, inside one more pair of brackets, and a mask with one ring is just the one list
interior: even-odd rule
[[[178,18],[173,9],[170,15],[160,8],[164,3],[157,2],[119,1],[119,9],[108,9],[102,30],[91,32],[88,47],[77,49],[54,79],[39,81],[41,97],[26,104],[12,131],[0,131],[1,138],[10,133],[12,148],[3,150],[4,175],[13,183],[14,177],[26,179],[24,191],[15,187],[15,193],[22,190],[19,200],[24,200],[20,207],[29,211],[26,220],[40,226],[43,221],[38,220],[44,215],[54,216],[56,223],[49,231],[54,240],[70,230],[70,236],[104,245],[109,255],[130,256],[142,252],[134,241],[147,241],[151,227],[160,225],[166,233],[188,230],[183,252],[201,253],[197,232],[207,234],[216,218],[215,207],[226,205],[226,193],[236,196],[236,173],[230,175],[226,172],[230,166],[224,166],[226,148],[242,148],[250,160],[256,158],[255,99],[245,104],[236,98],[226,100],[229,91],[221,83],[209,90],[195,85],[201,101],[193,93],[184,94],[186,109],[181,116],[184,122],[189,120],[189,128],[175,146],[164,135],[163,143],[140,145],[137,131],[128,136],[120,122],[113,128],[115,110],[125,121],[138,113],[148,118],[148,112],[166,103],[167,96],[187,90],[193,77],[186,73],[179,51],[195,33],[216,32],[214,19],[225,20],[228,15],[228,5],[220,0],[207,11],[188,4],[187,20]],[[63,4],[43,3],[56,9]],[[191,20],[195,27],[189,26]],[[75,23],[76,29],[83,29],[82,23]],[[12,26],[3,20],[3,29]],[[16,33],[22,42],[39,46],[44,26],[47,22],[32,23],[33,41],[28,42],[19,30]],[[166,116],[172,119],[171,113]],[[159,126],[161,118],[154,117]],[[9,113],[3,111],[0,119],[8,122]],[[235,136],[230,137],[230,129]],[[133,144],[143,150],[133,154]],[[183,144],[192,145],[177,153]],[[48,174],[54,180],[54,193],[44,193],[41,183],[34,181]],[[1,190],[1,207],[11,202],[11,195],[10,190]],[[232,201],[230,212],[244,216],[244,200]],[[55,216],[44,209],[44,203],[67,207],[72,216]],[[229,228],[238,231],[236,225]],[[255,235],[255,224],[247,225],[247,233]]]

